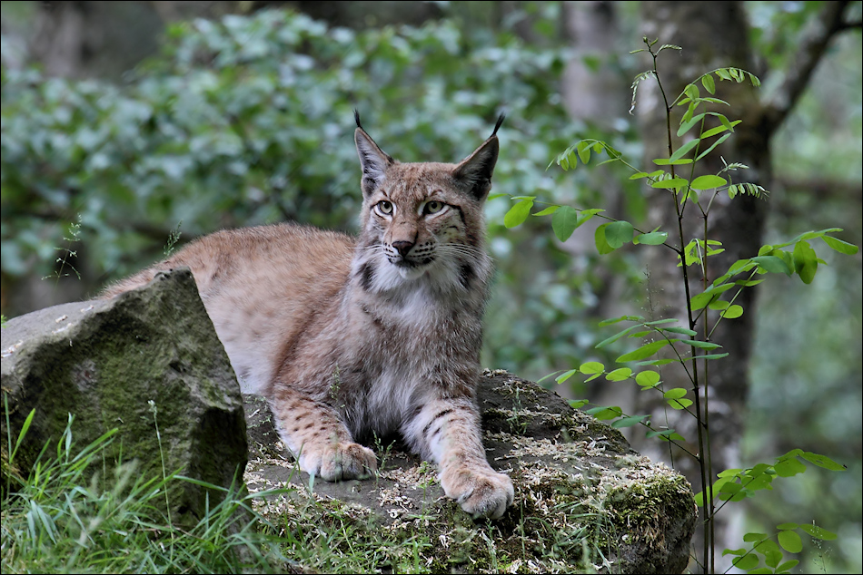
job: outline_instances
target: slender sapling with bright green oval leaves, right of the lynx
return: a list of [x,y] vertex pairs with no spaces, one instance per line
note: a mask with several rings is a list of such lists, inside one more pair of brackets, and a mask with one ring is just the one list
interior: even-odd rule
[[[838,228],[808,231],[800,234],[797,238],[788,242],[764,245],[756,256],[742,258],[731,264],[728,270],[718,278],[710,281],[707,258],[715,257],[723,253],[721,243],[710,239],[709,216],[713,208],[714,200],[720,193],[727,193],[729,199],[740,195],[749,195],[756,198],[766,198],[769,191],[758,184],[732,180],[732,172],[746,170],[748,167],[740,162],[727,162],[722,159],[723,167],[714,174],[697,175],[696,167],[699,161],[715,151],[720,145],[729,139],[734,133],[739,120],[729,118],[713,110],[708,106],[729,106],[728,102],[715,96],[716,82],[749,82],[758,87],[760,81],[753,73],[735,67],[723,67],[701,74],[694,82],[687,84],[673,100],[669,101],[662,85],[660,73],[657,67],[658,55],[667,49],[679,50],[679,46],[663,44],[655,49],[657,41],[649,41],[644,38],[646,48],[636,52],[649,52],[653,59],[653,67],[647,72],[640,73],[632,83],[632,108],[636,104],[636,94],[640,84],[653,79],[659,86],[663,102],[665,102],[665,119],[667,125],[668,156],[652,161],[653,168],[640,170],[633,163],[627,161],[620,151],[615,150],[605,141],[595,139],[583,139],[570,145],[560,152],[551,164],[556,163],[564,171],[575,170],[579,163],[587,165],[592,155],[604,154],[607,156],[605,163],[620,163],[630,172],[630,180],[644,180],[653,190],[665,190],[674,201],[674,209],[677,216],[677,229],[673,239],[668,231],[652,229],[642,231],[629,221],[614,219],[609,215],[602,214],[599,209],[577,209],[570,206],[547,204],[547,207],[535,213],[531,213],[535,196],[514,197],[518,200],[504,217],[504,224],[508,228],[520,225],[531,216],[551,215],[551,228],[560,241],[566,241],[572,233],[580,228],[585,222],[594,216],[600,216],[607,222],[601,224],[594,232],[594,241],[600,254],[608,254],[616,249],[622,248],[628,243],[634,245],[661,246],[670,249],[678,259],[681,281],[685,292],[686,317],[681,322],[679,319],[663,318],[647,321],[643,317],[623,316],[605,320],[600,326],[610,326],[621,321],[635,322],[635,325],[618,331],[613,336],[606,338],[597,344],[597,348],[610,346],[623,338],[639,338],[645,343],[618,356],[615,360],[618,364],[629,364],[635,362],[637,366],[660,367],[662,365],[676,364],[685,372],[691,387],[673,387],[664,389],[660,372],[653,369],[645,369],[636,373],[633,368],[621,366],[616,369],[606,369],[606,366],[597,361],[589,361],[578,368],[570,369],[556,377],[559,384],[564,383],[576,374],[584,375],[585,382],[590,382],[602,375],[610,382],[634,380],[643,391],[655,391],[663,395],[667,407],[678,411],[685,411],[697,421],[698,450],[693,453],[687,449],[685,438],[673,429],[657,429],[650,423],[650,415],[624,414],[619,406],[596,406],[588,410],[598,419],[609,420],[612,426],[627,427],[640,424],[648,431],[650,437],[659,437],[677,445],[685,453],[695,458],[699,463],[701,491],[697,500],[702,509],[703,524],[705,527],[704,549],[701,560],[703,567],[710,572],[714,571],[714,532],[713,523],[715,513],[719,512],[728,502],[740,501],[751,496],[760,489],[769,489],[769,484],[774,476],[790,476],[805,471],[805,464],[800,458],[809,463],[815,463],[833,471],[844,470],[844,466],[833,462],[824,455],[817,453],[793,450],[779,457],[777,462],[768,465],[759,463],[747,470],[726,470],[719,473],[719,479],[711,482],[713,471],[710,459],[710,436],[709,436],[709,396],[702,390],[707,388],[709,377],[709,361],[722,359],[728,356],[720,353],[721,347],[718,343],[710,340],[719,323],[726,320],[734,320],[744,314],[744,309],[737,303],[744,289],[755,287],[763,281],[760,276],[767,274],[785,274],[788,277],[797,275],[806,284],[815,278],[818,265],[825,262],[818,258],[818,253],[811,245],[813,240],[820,239],[829,249],[845,255],[853,255],[858,252],[858,247],[846,241],[836,238],[830,234],[841,231]],[[708,95],[702,95],[701,90]],[[685,112],[679,121],[676,131],[672,131],[671,112],[674,107],[686,106]],[[631,112],[631,108],[630,108]],[[715,124],[715,125],[712,125]],[[682,139],[683,143],[674,149],[674,137]],[[685,167],[689,167],[686,177],[679,174]],[[700,238],[688,239],[684,233],[683,219],[687,208],[692,205],[698,210],[703,220]],[[601,214],[601,215],[600,215]],[[701,275],[699,293],[692,293],[689,284],[689,268],[696,266]],[[708,317],[715,314],[715,320],[709,325]],[[682,326],[681,326],[682,323]],[[696,330],[700,325],[703,328],[701,335]],[[685,354],[682,348],[689,348]],[[664,355],[662,355],[664,354]],[[701,363],[703,362],[703,364]],[[699,365],[703,370],[699,372]],[[690,395],[691,394],[691,395]],[[691,397],[691,398],[690,398]],[[702,401],[703,400],[703,401]],[[587,401],[576,403],[585,406]],[[714,500],[719,499],[722,503],[715,506]],[[806,529],[804,529],[806,527]],[[814,537],[829,538],[829,531],[812,527],[812,532],[817,533]],[[744,541],[753,543],[749,550],[725,550],[726,554],[736,555],[734,565],[743,570],[752,572],[769,572],[759,570],[759,556],[763,557],[767,569],[774,572],[785,572],[796,565],[796,561],[782,561],[780,547],[785,551],[799,551],[799,535],[795,530],[806,531],[807,526],[797,523],[784,523],[778,527],[774,542],[768,535],[760,533],[749,533]],[[809,531],[807,531],[809,532]],[[797,551],[795,551],[797,550]]]

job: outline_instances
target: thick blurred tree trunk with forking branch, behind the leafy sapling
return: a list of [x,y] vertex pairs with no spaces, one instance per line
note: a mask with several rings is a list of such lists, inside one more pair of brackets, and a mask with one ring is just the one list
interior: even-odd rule
[[[730,108],[723,106],[717,111],[728,115],[729,120],[739,119],[742,122],[720,149],[699,162],[699,173],[696,175],[719,172],[723,167],[721,158],[724,158],[749,166],[749,170],[731,172],[733,181],[749,181],[769,190],[770,138],[797,101],[830,36],[841,28],[845,4],[825,3],[818,22],[802,34],[798,57],[791,60],[792,68],[783,71],[785,82],[769,100],[759,100],[760,94],[748,82],[717,82],[717,96],[730,104]],[[643,2],[640,15],[643,34],[649,40],[659,39],[656,47],[677,44],[683,48],[680,52],[667,50],[659,59],[660,78],[670,101],[687,83],[715,68],[735,66],[754,71],[749,28],[741,2]],[[636,113],[644,141],[645,166],[652,165],[651,161],[655,158],[668,155],[664,106],[656,83],[641,83]],[[685,111],[682,108],[672,110],[672,131],[679,125],[680,115]],[[675,150],[680,143],[674,142]],[[670,238],[676,237],[678,222],[673,198],[666,190],[650,190],[648,193],[648,229],[660,226],[670,232]],[[722,242],[725,252],[707,259],[708,282],[719,277],[736,260],[758,254],[768,206],[767,200],[751,196],[739,196],[734,200],[729,200],[727,194],[716,197],[709,213],[707,234],[709,239]],[[687,207],[683,221],[685,242],[704,236],[704,220],[700,212],[693,208],[692,205]],[[647,249],[644,253],[649,274],[648,313],[657,319],[676,317],[681,326],[687,326],[686,297],[677,258],[670,256],[665,249]],[[696,267],[690,267],[689,270],[690,294],[695,295],[702,289],[700,273]],[[712,341],[722,346],[718,351],[728,353],[729,357],[709,362],[709,365],[699,362],[700,375],[709,374],[706,393],[710,418],[706,429],[709,432],[713,477],[705,478],[707,482],[712,482],[719,471],[740,466],[739,439],[749,388],[755,290],[749,288],[743,291],[735,303],[744,308],[744,315],[722,321],[711,337]],[[713,326],[716,317],[709,317],[708,321],[709,326]],[[699,324],[697,329],[703,333],[703,325]],[[661,375],[668,388],[692,387],[678,364],[667,365]],[[702,388],[701,392],[703,405],[705,390]],[[636,401],[639,404],[636,413],[650,413],[654,425],[668,425],[678,430],[689,441],[689,451],[698,453],[698,430],[693,417],[667,408],[661,396],[641,393]],[[641,453],[673,463],[676,469],[686,474],[693,489],[701,491],[699,465],[693,458],[678,449],[669,449],[669,443],[645,440],[643,436],[634,437],[633,446]],[[716,541],[719,551],[725,547],[739,547],[741,541],[739,534],[727,529],[728,512],[726,509],[717,516]],[[700,556],[700,541],[696,541],[696,544]]]

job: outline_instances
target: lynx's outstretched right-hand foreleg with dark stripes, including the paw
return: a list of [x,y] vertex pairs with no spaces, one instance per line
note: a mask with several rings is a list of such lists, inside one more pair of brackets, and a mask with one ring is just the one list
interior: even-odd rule
[[438,463],[443,491],[465,512],[498,519],[510,506],[512,482],[491,469],[482,447],[480,415],[470,400],[426,404],[403,434],[424,457]]

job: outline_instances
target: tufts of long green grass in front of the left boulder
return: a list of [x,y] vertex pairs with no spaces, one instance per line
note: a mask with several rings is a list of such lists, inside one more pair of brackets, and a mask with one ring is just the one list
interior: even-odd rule
[[175,525],[164,512],[165,487],[193,480],[176,474],[146,479],[134,462],[106,464],[104,448],[114,433],[77,451],[70,417],[56,454],[43,450],[26,479],[15,473],[21,437],[15,445],[7,438],[4,573],[283,570],[279,546],[259,528],[263,518],[253,512],[250,496],[238,487],[206,485],[222,491],[223,501],[191,529]]

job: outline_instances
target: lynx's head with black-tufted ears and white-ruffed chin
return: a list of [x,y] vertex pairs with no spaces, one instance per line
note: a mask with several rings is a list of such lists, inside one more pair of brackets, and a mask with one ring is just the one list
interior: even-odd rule
[[497,132],[457,164],[395,161],[360,125],[354,134],[362,165],[362,287],[385,291],[429,282],[451,291],[484,283],[491,264],[483,250],[482,206],[498,159]]

